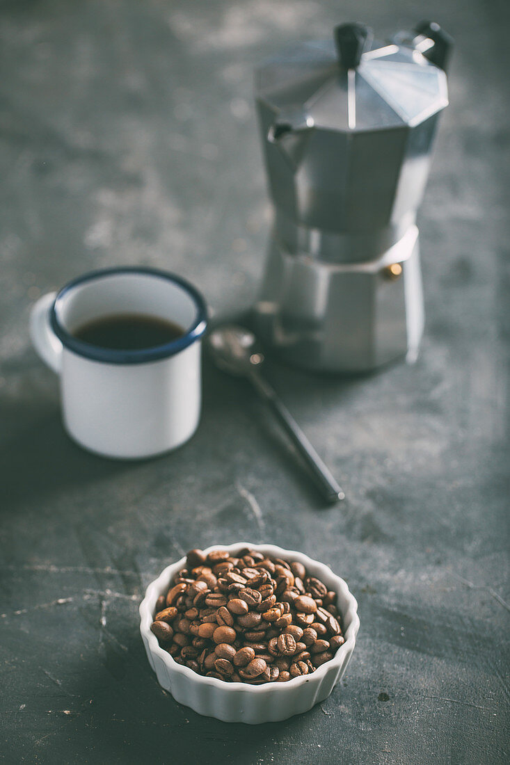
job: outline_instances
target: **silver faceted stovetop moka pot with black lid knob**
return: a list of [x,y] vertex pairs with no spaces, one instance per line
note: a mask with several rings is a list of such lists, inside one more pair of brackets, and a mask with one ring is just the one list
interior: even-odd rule
[[387,44],[343,24],[258,68],[274,220],[254,323],[289,362],[359,372],[417,356],[416,214],[451,42],[435,23]]

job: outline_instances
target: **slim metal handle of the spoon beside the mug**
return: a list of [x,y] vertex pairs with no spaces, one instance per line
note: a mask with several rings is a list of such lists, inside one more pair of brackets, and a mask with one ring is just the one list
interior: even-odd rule
[[266,382],[260,374],[254,369],[250,373],[250,381],[253,387],[257,390],[257,393],[262,399],[264,399],[273,410],[276,418],[283,425],[287,435],[301,454],[302,458],[311,470],[312,477],[315,480],[316,486],[319,488],[324,500],[333,504],[338,500],[345,499],[345,493],[342,488],[338,486],[335,478],[329,472],[328,468],[322,462],[319,454],[315,451],[310,444],[308,438],[303,433],[293,415],[277,396],[276,391],[270,386],[269,382]]

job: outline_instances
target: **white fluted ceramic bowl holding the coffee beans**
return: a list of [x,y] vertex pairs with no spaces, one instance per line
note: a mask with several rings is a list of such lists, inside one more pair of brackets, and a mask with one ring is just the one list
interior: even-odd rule
[[215,549],[236,553],[246,547],[265,555],[273,555],[274,558],[299,561],[310,575],[322,580],[329,590],[338,594],[337,607],[342,615],[345,643],[340,646],[331,661],[322,664],[312,675],[303,675],[288,682],[268,682],[263,685],[224,682],[213,677],[203,677],[175,662],[169,653],[160,648],[150,627],[159,595],[167,593],[169,584],[177,572],[185,568],[185,558],[165,568],[165,571],[149,584],[140,604],[140,632],[159,685],[162,685],[165,691],[169,691],[175,701],[191,707],[199,715],[208,715],[224,722],[258,724],[286,720],[324,701],[332,692],[335,683],[342,678],[358,634],[358,604],[343,579],[333,574],[327,566],[312,561],[301,552],[283,550],[275,545],[237,542],[235,545],[212,545],[204,550],[204,554],[207,555]]

